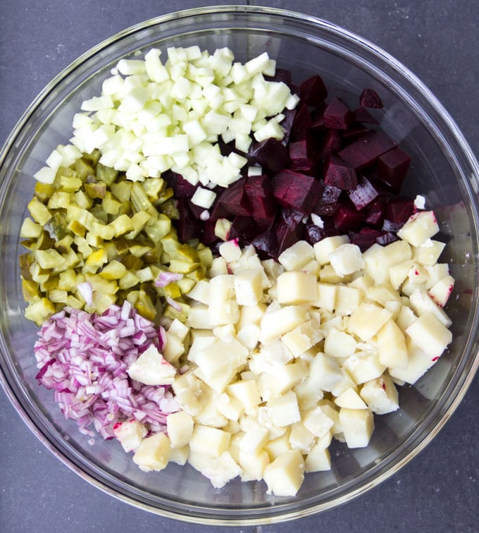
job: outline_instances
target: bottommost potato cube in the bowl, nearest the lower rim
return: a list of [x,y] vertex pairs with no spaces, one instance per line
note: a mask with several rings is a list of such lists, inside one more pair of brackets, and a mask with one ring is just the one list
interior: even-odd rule
[[295,496],[304,479],[304,460],[299,450],[279,455],[264,469],[268,494]]

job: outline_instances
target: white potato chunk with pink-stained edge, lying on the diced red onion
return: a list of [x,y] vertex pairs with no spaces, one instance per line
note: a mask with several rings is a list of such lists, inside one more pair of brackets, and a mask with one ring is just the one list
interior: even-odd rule
[[145,385],[170,385],[175,381],[176,368],[151,344],[130,364],[127,373],[131,379]]

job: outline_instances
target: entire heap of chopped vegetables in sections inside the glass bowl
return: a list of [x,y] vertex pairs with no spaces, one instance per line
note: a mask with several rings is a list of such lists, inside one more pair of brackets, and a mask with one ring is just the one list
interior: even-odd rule
[[368,446],[452,341],[411,158],[268,54],[122,59],[35,178],[20,231],[37,379],[90,443],[294,496]]

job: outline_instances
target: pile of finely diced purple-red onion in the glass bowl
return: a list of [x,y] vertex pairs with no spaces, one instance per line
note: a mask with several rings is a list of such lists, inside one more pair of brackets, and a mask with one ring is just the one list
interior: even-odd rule
[[76,420],[79,431],[90,438],[90,425],[104,439],[112,439],[113,426],[132,416],[149,424],[151,433],[165,431],[166,417],[179,410],[170,388],[147,386],[127,374],[130,364],[162,339],[164,345],[164,330],[157,330],[126,300],[102,315],[66,307],[39,331],[36,377],[54,391],[63,415]]

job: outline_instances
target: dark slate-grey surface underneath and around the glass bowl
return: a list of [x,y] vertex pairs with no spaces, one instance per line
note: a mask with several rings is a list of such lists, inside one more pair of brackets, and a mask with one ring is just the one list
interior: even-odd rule
[[[207,4],[0,0],[0,144],[44,85],[94,44],[147,18]],[[435,92],[479,154],[477,2],[296,0],[260,4],[328,19],[389,51]],[[478,404],[476,376],[437,438],[393,477],[347,505],[284,525],[230,531],[478,532]],[[1,532],[211,529],[150,515],[90,486],[37,441],[0,391]]]

